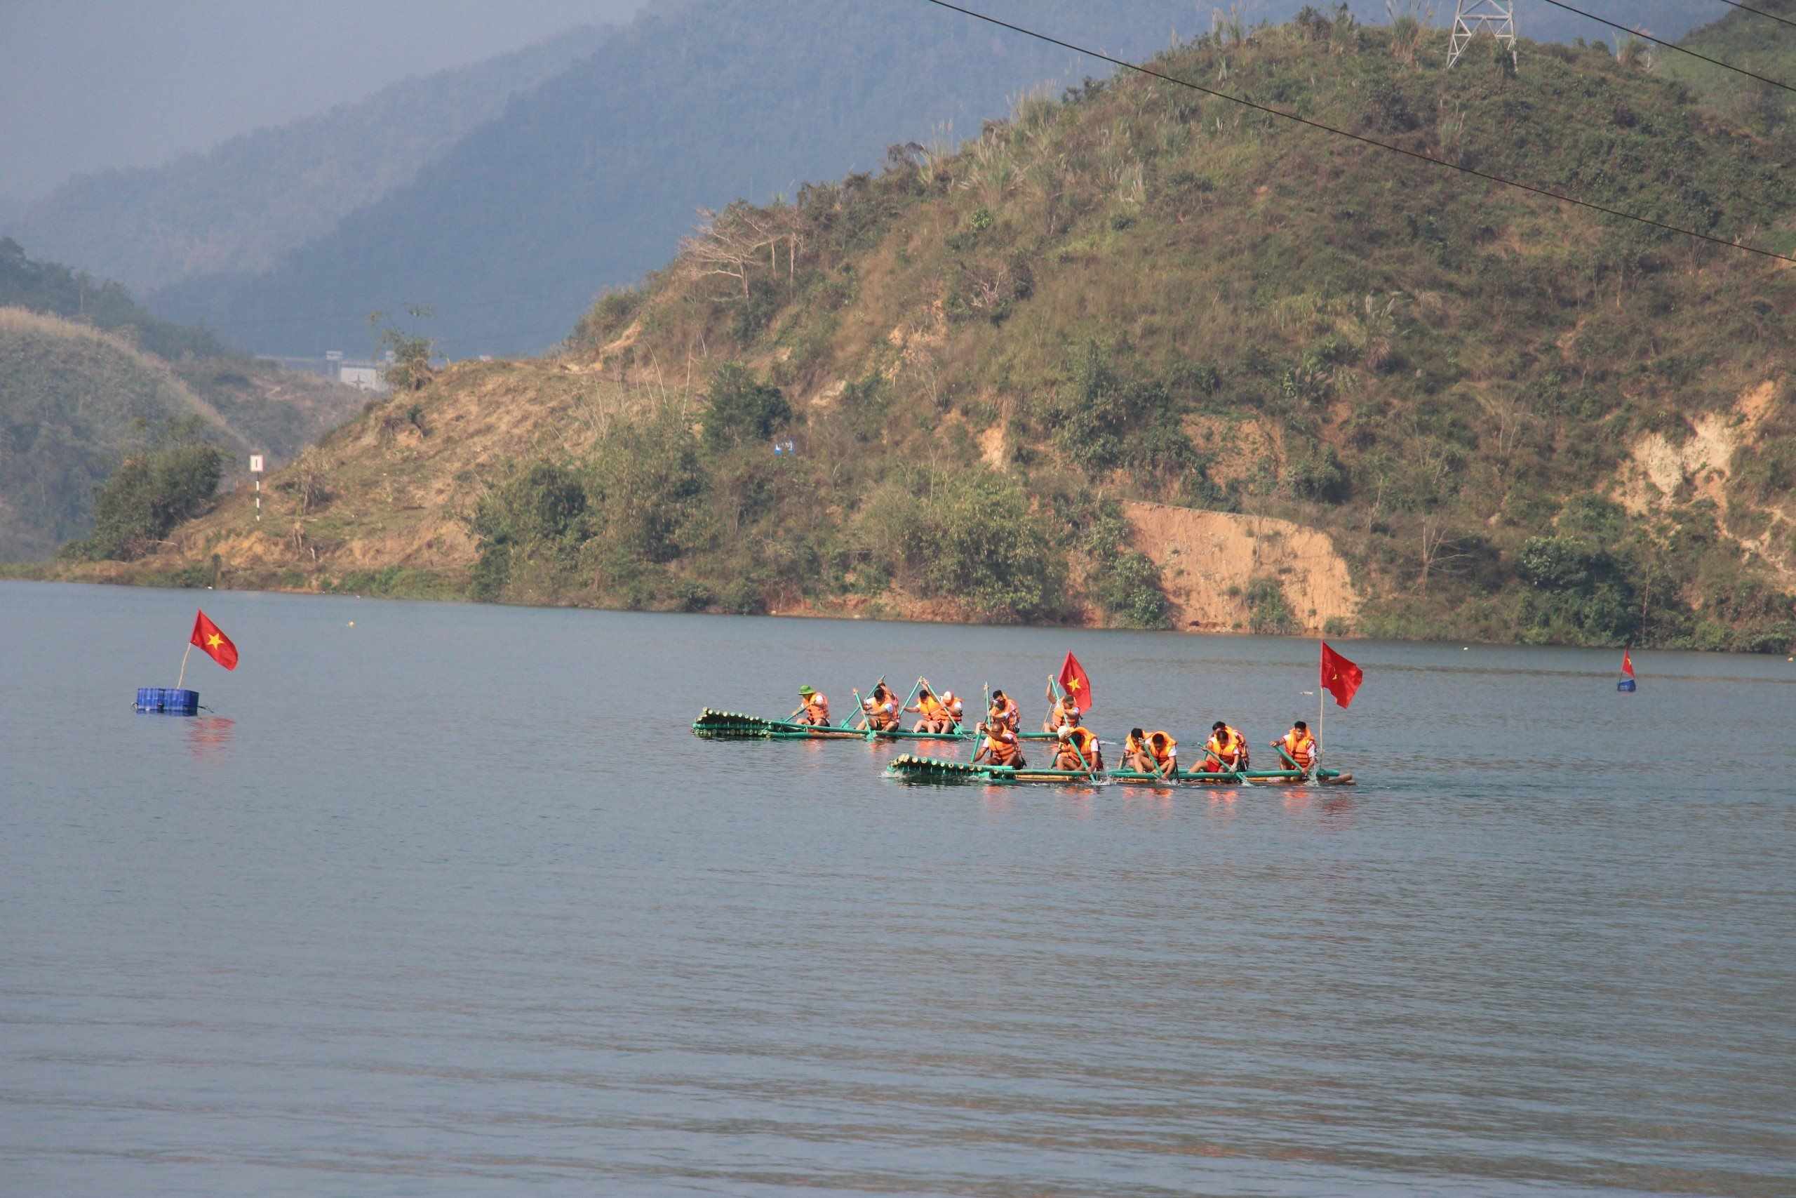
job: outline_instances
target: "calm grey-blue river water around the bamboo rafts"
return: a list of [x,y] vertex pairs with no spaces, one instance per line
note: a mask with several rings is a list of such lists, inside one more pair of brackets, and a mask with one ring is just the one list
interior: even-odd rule
[[1264,745],[1316,647],[198,598],[181,720],[196,593],[0,584],[0,1193],[1796,1193],[1783,659],[1349,641],[1358,788],[907,787],[690,724],[1072,648]]

